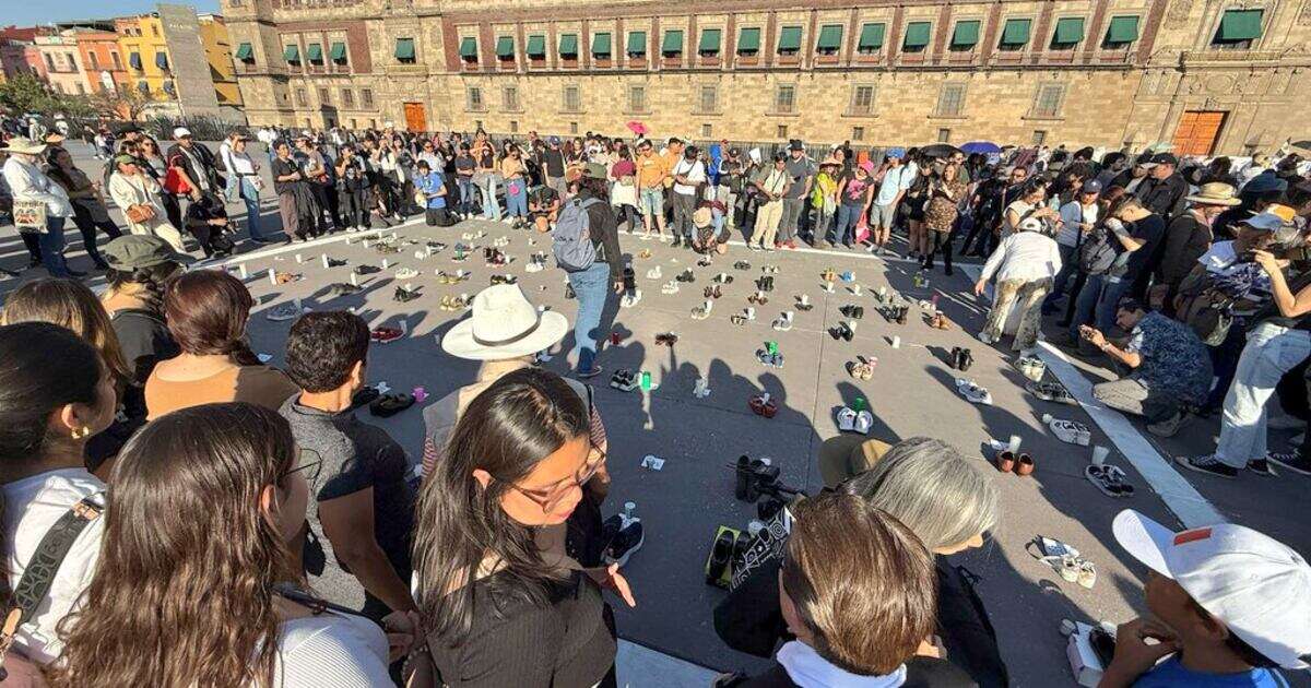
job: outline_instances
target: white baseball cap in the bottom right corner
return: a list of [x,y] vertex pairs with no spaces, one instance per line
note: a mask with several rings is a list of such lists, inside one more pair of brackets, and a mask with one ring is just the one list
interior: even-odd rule
[[1311,667],[1311,566],[1291,548],[1232,523],[1176,533],[1131,508],[1112,531],[1266,659]]

